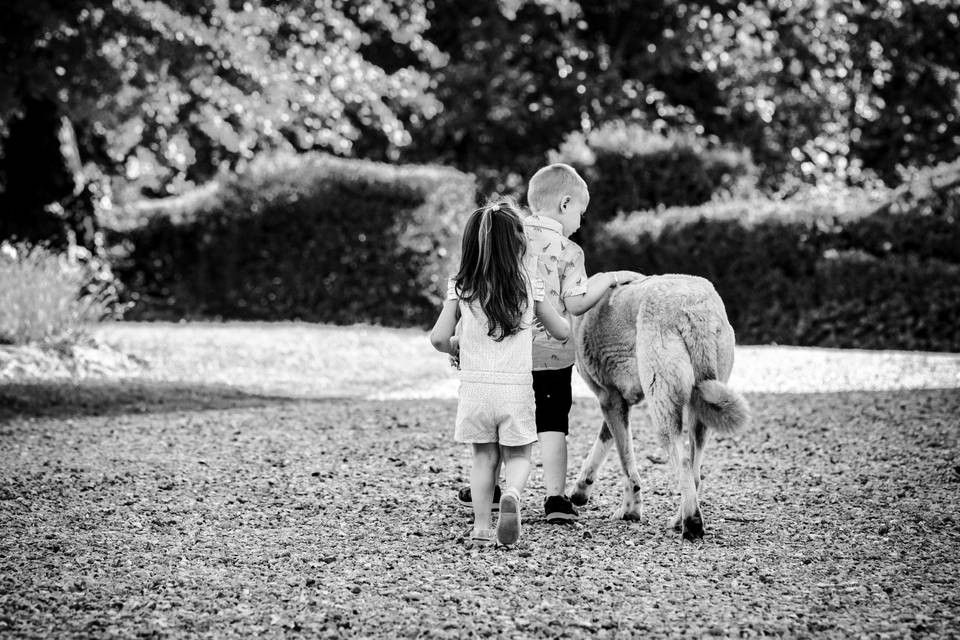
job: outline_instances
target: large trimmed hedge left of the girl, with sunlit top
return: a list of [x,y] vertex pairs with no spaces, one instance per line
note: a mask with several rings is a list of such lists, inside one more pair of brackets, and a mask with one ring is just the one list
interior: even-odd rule
[[427,325],[475,191],[442,167],[261,159],[196,210],[118,232],[128,317]]

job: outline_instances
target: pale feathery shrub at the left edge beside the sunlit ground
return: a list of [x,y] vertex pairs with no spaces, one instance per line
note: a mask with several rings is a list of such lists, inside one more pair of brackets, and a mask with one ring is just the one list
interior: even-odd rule
[[115,302],[109,270],[85,249],[0,244],[0,344],[75,340]]

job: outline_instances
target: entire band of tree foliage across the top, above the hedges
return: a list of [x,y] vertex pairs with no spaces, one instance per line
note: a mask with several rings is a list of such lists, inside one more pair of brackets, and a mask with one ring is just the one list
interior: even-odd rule
[[564,136],[615,120],[748,148],[768,186],[896,182],[960,143],[949,0],[6,6],[0,130],[28,97],[52,102],[121,199],[277,148],[402,154],[519,190]]

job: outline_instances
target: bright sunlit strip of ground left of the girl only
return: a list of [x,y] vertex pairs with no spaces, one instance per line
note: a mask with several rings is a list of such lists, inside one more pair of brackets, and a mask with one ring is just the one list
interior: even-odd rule
[[142,359],[140,379],[221,384],[292,398],[390,392],[452,372],[417,329],[124,322],[98,327],[95,334]]

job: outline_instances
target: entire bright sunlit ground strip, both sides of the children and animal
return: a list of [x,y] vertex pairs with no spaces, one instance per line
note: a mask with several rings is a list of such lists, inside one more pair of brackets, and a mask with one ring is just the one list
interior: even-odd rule
[[[139,380],[225,385],[291,398],[457,395],[457,372],[418,329],[116,323],[97,328],[95,335],[146,363]],[[731,385],[750,393],[953,388],[960,387],[960,354],[741,346]],[[578,376],[574,394],[592,397]]]

